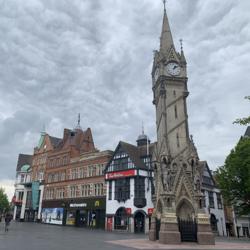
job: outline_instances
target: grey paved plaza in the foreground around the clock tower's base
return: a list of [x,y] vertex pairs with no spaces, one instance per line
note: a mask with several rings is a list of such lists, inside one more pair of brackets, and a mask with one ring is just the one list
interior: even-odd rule
[[0,223],[0,250],[125,250],[125,249],[250,249],[250,240],[219,238],[216,246],[161,245],[145,235],[110,233],[76,227],[12,222],[9,232]]

